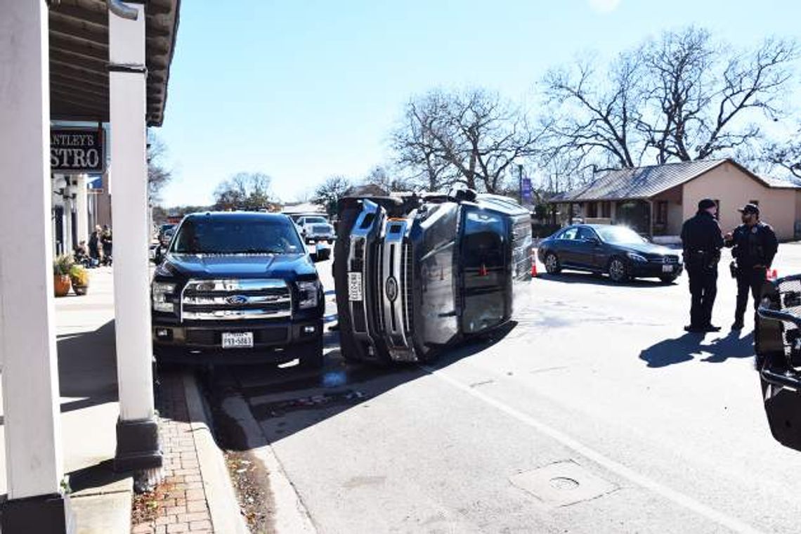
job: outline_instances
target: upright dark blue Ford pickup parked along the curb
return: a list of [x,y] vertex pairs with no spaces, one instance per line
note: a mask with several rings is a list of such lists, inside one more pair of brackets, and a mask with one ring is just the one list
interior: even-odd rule
[[[323,363],[323,288],[286,215],[187,215],[151,284],[161,362]],[[322,258],[320,258],[322,259]]]

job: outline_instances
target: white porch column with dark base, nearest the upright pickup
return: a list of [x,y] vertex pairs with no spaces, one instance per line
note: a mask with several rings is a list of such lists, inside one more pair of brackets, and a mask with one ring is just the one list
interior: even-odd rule
[[109,12],[111,222],[119,383],[118,471],[160,468],[152,376],[147,230],[145,6],[125,4],[134,18]]

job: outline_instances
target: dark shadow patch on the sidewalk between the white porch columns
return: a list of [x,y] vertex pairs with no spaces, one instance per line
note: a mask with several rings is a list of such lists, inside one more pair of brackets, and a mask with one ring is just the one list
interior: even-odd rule
[[65,397],[62,412],[115,402],[117,358],[114,321],[95,331],[58,336],[58,386]]

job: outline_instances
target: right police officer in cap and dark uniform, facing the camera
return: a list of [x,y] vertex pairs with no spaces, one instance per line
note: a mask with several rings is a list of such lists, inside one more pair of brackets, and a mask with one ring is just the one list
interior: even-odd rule
[[743,328],[749,291],[754,297],[756,313],[765,275],[779,249],[779,241],[771,225],[759,220],[758,206],[746,204],[738,211],[742,214],[743,224],[726,235],[726,246],[733,247],[731,255],[736,261],[733,274],[737,279],[737,307],[732,330]]

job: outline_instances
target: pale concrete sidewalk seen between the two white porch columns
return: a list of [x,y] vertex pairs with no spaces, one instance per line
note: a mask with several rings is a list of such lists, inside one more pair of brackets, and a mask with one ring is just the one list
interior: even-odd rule
[[[77,532],[127,532],[133,482],[112,469],[119,404],[111,268],[91,270],[90,283],[87,295],[56,299],[64,473]],[[0,438],[4,445],[4,436]],[[4,494],[5,460],[3,451]]]

